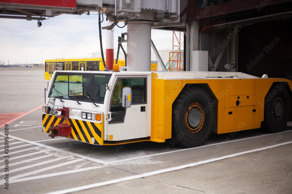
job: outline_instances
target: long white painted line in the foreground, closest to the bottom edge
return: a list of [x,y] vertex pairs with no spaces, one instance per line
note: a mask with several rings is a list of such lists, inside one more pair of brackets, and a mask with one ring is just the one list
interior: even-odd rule
[[148,177],[148,176],[157,175],[157,174],[161,174],[161,173],[165,173],[165,172],[171,172],[171,171],[175,171],[175,170],[181,170],[181,169],[184,169],[184,168],[189,168],[189,167],[197,166],[197,165],[200,165],[200,164],[206,164],[206,163],[210,163],[210,162],[224,160],[224,159],[228,159],[228,158],[232,158],[232,157],[236,157],[236,156],[240,156],[240,155],[244,155],[244,154],[248,154],[248,153],[252,153],[252,152],[258,152],[258,151],[261,151],[261,150],[270,149],[270,148],[274,148],[274,147],[279,147],[279,146],[287,145],[287,144],[291,144],[291,143],[292,143],[292,141],[289,141],[289,142],[280,143],[280,144],[276,144],[276,145],[271,145],[271,146],[267,146],[267,147],[262,147],[262,148],[258,148],[258,149],[252,149],[252,150],[245,151],[245,152],[239,152],[239,153],[236,153],[236,154],[230,154],[230,155],[227,155],[227,156],[221,156],[221,157],[218,157],[218,158],[213,158],[213,159],[208,159],[208,160],[199,161],[199,162],[195,162],[195,163],[180,165],[180,166],[176,166],[176,167],[172,167],[172,168],[165,168],[165,169],[161,169],[161,170],[147,172],[147,173],[144,173],[144,174],[141,174],[141,175],[134,175],[134,176],[130,176],[130,177],[124,177],[124,178],[105,181],[105,182],[101,182],[101,183],[95,183],[95,184],[90,184],[90,185],[86,185],[86,186],[69,188],[69,189],[65,189],[65,190],[62,190],[62,191],[56,191],[56,192],[47,193],[47,194],[72,193],[72,192],[81,191],[81,190],[85,190],[85,189],[90,189],[90,188],[94,188],[94,187],[99,187],[99,186],[119,183],[119,182],[122,182],[122,181],[133,180],[133,179],[138,179],[138,178],[142,178],[142,177]]

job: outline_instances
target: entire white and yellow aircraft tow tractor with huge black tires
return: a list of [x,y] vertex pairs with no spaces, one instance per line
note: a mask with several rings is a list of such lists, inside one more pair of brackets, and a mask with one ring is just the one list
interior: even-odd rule
[[138,141],[183,147],[218,134],[291,121],[287,79],[240,72],[55,71],[43,132],[95,145]]

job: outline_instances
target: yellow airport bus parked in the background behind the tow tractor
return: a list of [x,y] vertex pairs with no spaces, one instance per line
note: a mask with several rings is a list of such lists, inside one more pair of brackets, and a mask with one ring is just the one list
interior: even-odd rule
[[[119,59],[118,64],[124,67],[125,59]],[[51,80],[55,70],[81,70],[81,67],[90,71],[105,70],[102,58],[50,59],[45,60],[45,80]]]

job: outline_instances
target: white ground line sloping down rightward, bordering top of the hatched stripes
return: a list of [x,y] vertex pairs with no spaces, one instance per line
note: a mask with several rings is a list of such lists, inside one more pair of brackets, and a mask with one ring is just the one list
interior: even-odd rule
[[[0,135],[3,135],[3,134],[0,133]],[[63,154],[68,154],[68,155],[71,155],[71,156],[75,156],[77,158],[82,158],[84,160],[88,160],[88,161],[91,161],[91,162],[94,162],[94,163],[107,164],[107,162],[105,162],[105,161],[98,160],[98,159],[95,159],[95,158],[91,158],[91,157],[88,157],[88,156],[83,156],[81,154],[75,154],[73,152],[69,152],[69,151],[66,151],[66,150],[63,150],[63,149],[51,147],[51,146],[48,146],[48,145],[40,144],[40,143],[37,143],[37,142],[25,140],[25,139],[18,138],[18,137],[14,137],[14,136],[10,136],[10,137],[13,138],[13,139],[15,139],[15,140],[22,141],[24,143],[29,143],[31,145],[36,145],[36,146],[39,146],[39,147],[44,147],[46,149],[50,149],[50,150],[53,150],[53,151],[56,151],[56,152],[61,152]],[[9,153],[9,154],[11,154],[11,153]],[[1,155],[0,155],[0,157],[1,157]]]

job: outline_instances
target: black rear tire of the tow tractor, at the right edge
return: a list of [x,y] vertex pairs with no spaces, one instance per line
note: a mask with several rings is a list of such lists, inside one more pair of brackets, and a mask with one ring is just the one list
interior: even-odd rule
[[[276,103],[280,104],[278,108],[281,107],[282,109],[280,108],[278,111],[275,111]],[[290,96],[285,86],[272,86],[265,97],[264,121],[261,128],[270,133],[283,131],[288,122],[290,106]]]

